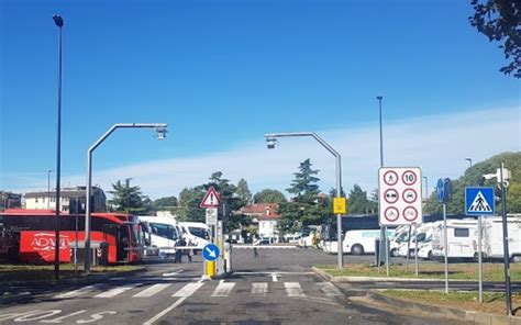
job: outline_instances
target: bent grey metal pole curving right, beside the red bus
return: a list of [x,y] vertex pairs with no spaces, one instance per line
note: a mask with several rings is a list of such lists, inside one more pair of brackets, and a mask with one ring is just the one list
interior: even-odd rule
[[92,153],[101,145],[101,143],[109,137],[117,128],[154,128],[156,131],[157,139],[165,139],[167,124],[152,124],[152,123],[129,123],[129,124],[114,124],[112,125],[90,148],[87,150],[87,189],[85,199],[85,272],[90,272],[90,192],[92,190]]

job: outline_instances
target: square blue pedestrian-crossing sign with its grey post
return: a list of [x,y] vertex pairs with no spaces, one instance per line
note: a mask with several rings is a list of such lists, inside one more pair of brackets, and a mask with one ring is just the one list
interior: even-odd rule
[[494,188],[465,188],[465,214],[478,216],[479,302],[483,303],[483,216],[495,213]]

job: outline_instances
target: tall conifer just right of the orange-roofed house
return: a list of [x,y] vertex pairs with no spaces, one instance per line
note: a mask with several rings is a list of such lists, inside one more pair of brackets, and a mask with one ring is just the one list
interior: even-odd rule
[[319,186],[317,184],[320,178],[314,177],[319,170],[311,169],[310,159],[306,159],[300,162],[299,172],[295,172],[295,179],[291,182],[291,187],[287,189],[288,192],[296,194],[293,198],[297,202],[310,203],[317,199],[319,194]]

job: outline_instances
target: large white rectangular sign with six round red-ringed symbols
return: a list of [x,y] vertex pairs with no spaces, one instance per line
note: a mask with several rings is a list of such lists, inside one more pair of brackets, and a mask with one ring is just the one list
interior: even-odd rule
[[378,170],[378,181],[380,225],[410,225],[422,222],[419,167],[381,167]]

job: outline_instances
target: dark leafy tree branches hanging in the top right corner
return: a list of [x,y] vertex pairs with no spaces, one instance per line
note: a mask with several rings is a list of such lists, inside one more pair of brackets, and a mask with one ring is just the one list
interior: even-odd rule
[[475,13],[468,20],[490,42],[499,42],[508,65],[499,69],[521,78],[521,1],[472,0]]

